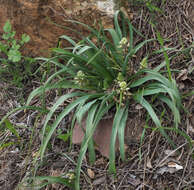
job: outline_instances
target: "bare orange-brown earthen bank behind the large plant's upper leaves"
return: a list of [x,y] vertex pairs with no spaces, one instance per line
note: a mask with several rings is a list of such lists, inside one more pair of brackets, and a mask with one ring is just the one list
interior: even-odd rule
[[31,40],[24,49],[28,56],[48,56],[49,48],[57,46],[61,35],[74,39],[80,36],[67,30],[86,32],[83,27],[67,22],[78,20],[90,26],[103,20],[106,26],[112,25],[92,0],[0,0],[0,34],[4,23],[9,19],[17,36],[27,33]]

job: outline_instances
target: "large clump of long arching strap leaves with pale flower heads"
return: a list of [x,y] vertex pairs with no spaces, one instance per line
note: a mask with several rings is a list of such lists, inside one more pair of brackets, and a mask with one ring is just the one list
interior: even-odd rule
[[[121,17],[121,25],[118,17]],[[154,110],[156,100],[165,103],[174,115],[174,128],[177,132],[180,122],[179,109],[182,107],[176,82],[169,70],[169,59],[166,57],[165,48],[162,52],[165,61],[151,70],[147,68],[147,58],[139,64],[137,71],[133,65],[133,57],[146,43],[153,39],[134,44],[133,33],[143,36],[124,18],[122,12],[116,12],[114,16],[115,29],[93,29],[83,23],[70,21],[88,28],[91,32],[89,37],[76,43],[68,36],[61,36],[67,40],[72,47],[53,48],[53,58],[38,58],[45,62],[55,64],[59,69],[48,78],[45,84],[35,89],[29,96],[27,105],[37,95],[51,89],[76,89],[73,92],[62,95],[50,108],[43,126],[43,138],[40,149],[41,159],[44,156],[48,142],[62,119],[74,111],[71,131],[75,122],[81,122],[86,118],[85,137],[81,145],[76,168],[75,189],[79,189],[79,179],[82,160],[86,151],[89,152],[90,163],[95,161],[93,133],[99,121],[111,109],[115,110],[113,129],[111,135],[109,171],[115,173],[115,141],[119,137],[121,158],[125,160],[124,132],[128,117],[128,109],[134,101],[141,104],[153,120],[156,130],[175,146],[167,135],[165,127]],[[127,36],[129,35],[129,39]],[[158,35],[162,44],[162,39]],[[97,40],[94,43],[92,40]],[[167,76],[160,70],[167,68]],[[58,78],[58,80],[53,80]],[[64,101],[72,99],[72,102],[64,108],[56,120],[51,124],[49,132],[46,132],[51,117]]]

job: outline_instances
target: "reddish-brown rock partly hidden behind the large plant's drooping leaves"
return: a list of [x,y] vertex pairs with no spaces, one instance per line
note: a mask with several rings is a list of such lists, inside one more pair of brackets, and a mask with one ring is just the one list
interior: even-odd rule
[[[72,142],[74,144],[81,144],[84,138],[86,120],[83,119],[81,126],[76,123],[73,129]],[[96,127],[93,135],[93,140],[96,145],[96,149],[105,157],[109,158],[110,152],[110,140],[112,134],[113,118],[102,119]],[[128,119],[127,126],[125,128],[125,143],[130,145],[134,142],[139,142],[144,122],[139,117],[135,119]],[[116,139],[115,151],[119,150],[119,140]]]

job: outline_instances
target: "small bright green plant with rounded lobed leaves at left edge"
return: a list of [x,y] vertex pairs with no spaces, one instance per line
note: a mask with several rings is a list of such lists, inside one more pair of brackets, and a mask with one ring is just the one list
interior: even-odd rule
[[[29,42],[30,37],[22,34],[21,39],[15,38],[16,32],[7,21],[3,27],[2,40],[0,41],[0,74],[3,78],[12,77],[13,83],[18,87],[22,86],[22,80],[31,74],[31,64],[34,59],[23,57],[20,49]],[[22,75],[21,75],[22,73]]]

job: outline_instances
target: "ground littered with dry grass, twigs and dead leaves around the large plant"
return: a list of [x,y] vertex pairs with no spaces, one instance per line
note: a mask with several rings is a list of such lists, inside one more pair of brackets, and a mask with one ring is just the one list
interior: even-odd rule
[[[177,49],[190,47],[194,39],[194,2],[192,0],[166,1],[161,9],[164,14],[152,13],[146,6],[141,8],[136,5],[130,7],[132,23],[147,38],[156,38],[156,33],[150,22],[156,25],[161,35],[168,39],[166,47]],[[144,57],[145,52],[151,52],[157,44],[147,46],[139,52],[136,62]],[[174,74],[179,89],[183,94],[183,105],[188,113],[182,112],[181,125],[179,126],[192,139],[194,139],[194,96],[185,96],[194,90],[194,74],[190,72],[194,64],[194,54],[181,54],[171,61],[171,68],[181,71]],[[150,60],[151,65],[157,65],[161,57]],[[134,64],[135,64],[134,63]],[[36,79],[34,79],[36,80]],[[26,89],[27,94],[32,90]],[[22,90],[0,82],[0,118],[15,107],[20,106]],[[25,95],[25,97],[27,96]],[[47,107],[52,105],[56,98],[56,92],[47,94]],[[36,99],[33,105],[40,105]],[[140,145],[142,130],[138,126],[144,124],[145,112],[132,106],[129,114],[130,126],[135,131],[130,131],[126,142],[128,161],[123,163],[117,156],[117,175],[108,174],[108,159],[97,155],[97,161],[93,166],[89,165],[88,158],[84,159],[81,174],[81,189],[115,189],[115,190],[192,190],[194,189],[194,148],[189,148],[186,139],[174,132],[169,132],[177,149],[173,151],[165,139],[155,131],[146,130],[145,139]],[[136,117],[134,117],[136,116]],[[14,126],[17,126],[19,136],[17,138],[10,131],[0,129],[0,141],[8,143],[0,148],[0,190],[30,190],[25,187],[25,179],[36,174],[37,176],[59,176],[62,173],[74,171],[79,154],[79,146],[74,145],[69,151],[69,144],[57,139],[57,132],[49,144],[45,160],[40,163],[35,159],[40,147],[41,127],[45,116],[34,111],[17,111],[9,117]],[[171,121],[166,121],[167,124]],[[59,128],[66,132],[70,123],[66,118]],[[133,134],[133,136],[132,136]],[[141,149],[142,158],[139,159]],[[181,167],[180,170],[176,166]],[[37,181],[38,183],[38,181]],[[18,186],[23,184],[23,186]],[[42,189],[62,190],[68,189],[59,184],[47,185]]]

